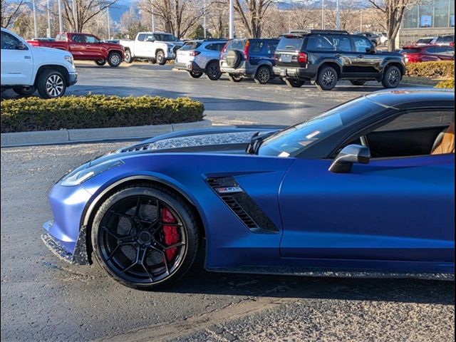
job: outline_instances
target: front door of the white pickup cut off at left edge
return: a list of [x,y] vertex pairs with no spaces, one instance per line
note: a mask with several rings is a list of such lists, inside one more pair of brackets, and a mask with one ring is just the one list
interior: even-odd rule
[[1,31],[1,85],[28,86],[33,77],[31,47]]

